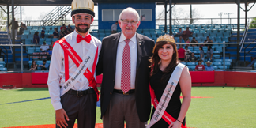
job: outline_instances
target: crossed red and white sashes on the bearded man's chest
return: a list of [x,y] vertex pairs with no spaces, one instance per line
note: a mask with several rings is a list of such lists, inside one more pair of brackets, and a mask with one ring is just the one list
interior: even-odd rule
[[[84,75],[89,82],[89,87],[92,87],[97,94],[97,101],[99,100],[99,91],[96,87],[96,78],[94,77],[96,62],[98,58],[98,47],[93,43],[90,44],[88,53],[85,55],[83,52],[83,59],[77,55],[77,52],[73,50],[70,43],[66,41],[65,38],[56,41],[59,43],[64,51],[64,63],[65,63],[65,83],[61,88],[61,96],[65,94],[70,88],[77,83],[77,81]],[[77,70],[69,78],[69,56],[72,61],[76,64]],[[93,59],[94,58],[94,59]],[[92,63],[93,62],[93,63]],[[88,66],[92,66],[92,72],[88,70]]]

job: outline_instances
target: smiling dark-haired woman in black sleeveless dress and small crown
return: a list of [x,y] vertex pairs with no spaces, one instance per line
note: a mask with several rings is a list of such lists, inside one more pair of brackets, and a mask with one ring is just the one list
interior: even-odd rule
[[[154,123],[151,126],[151,123],[154,122],[154,119],[151,119],[148,127],[152,128],[180,128],[186,127],[185,115],[186,111],[190,106],[191,101],[191,77],[189,70],[186,66],[179,63],[178,60],[178,51],[175,45],[175,40],[172,36],[160,36],[153,50],[153,56],[151,58],[152,62],[152,71],[150,77],[150,86],[151,86],[151,96],[152,99],[155,96],[157,101],[160,101],[161,96],[164,95],[164,90],[168,86],[168,81],[170,77],[179,76],[179,81],[177,81],[176,88],[171,96],[171,100],[168,102],[168,107],[165,111],[168,113],[168,117],[171,118],[172,122],[166,121],[164,116],[161,116],[160,120]],[[178,67],[179,66],[179,67]],[[175,72],[176,68],[183,66],[183,69],[180,69],[180,72]],[[175,72],[175,73],[173,73]],[[169,86],[168,86],[169,87]],[[171,84],[172,87],[172,84]],[[180,94],[183,94],[183,102],[181,104]],[[156,106],[151,115],[155,114]],[[154,116],[152,116],[154,118]]]

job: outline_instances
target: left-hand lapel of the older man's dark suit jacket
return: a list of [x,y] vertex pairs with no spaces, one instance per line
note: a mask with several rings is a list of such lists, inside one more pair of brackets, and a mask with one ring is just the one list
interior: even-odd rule
[[[111,52],[112,52],[112,58],[113,58],[113,66],[114,66],[114,70],[116,69],[116,54],[117,54],[117,48],[119,46],[119,38],[121,36],[121,32],[115,36],[115,38],[111,41]],[[115,72],[114,72],[115,73]]]

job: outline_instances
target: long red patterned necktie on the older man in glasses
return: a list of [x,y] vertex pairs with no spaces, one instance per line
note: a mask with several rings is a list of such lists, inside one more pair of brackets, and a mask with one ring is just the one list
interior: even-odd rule
[[122,52],[121,89],[126,93],[130,90],[130,39],[126,39],[125,42]]

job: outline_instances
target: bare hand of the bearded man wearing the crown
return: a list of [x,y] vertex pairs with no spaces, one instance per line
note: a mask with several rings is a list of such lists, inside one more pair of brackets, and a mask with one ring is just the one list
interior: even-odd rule
[[[66,115],[66,111],[64,111],[64,109],[59,109],[55,111],[56,114],[56,124],[59,127],[65,127],[68,126],[68,124],[66,123],[67,121],[70,121],[69,117]],[[66,118],[66,120],[65,120]]]

